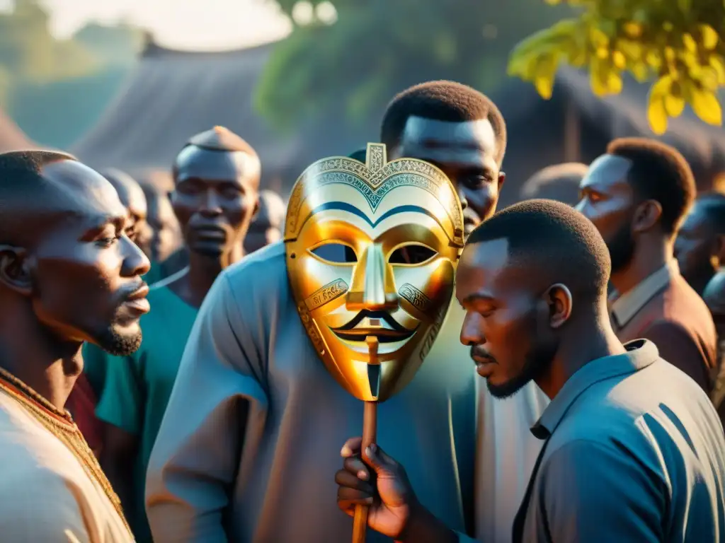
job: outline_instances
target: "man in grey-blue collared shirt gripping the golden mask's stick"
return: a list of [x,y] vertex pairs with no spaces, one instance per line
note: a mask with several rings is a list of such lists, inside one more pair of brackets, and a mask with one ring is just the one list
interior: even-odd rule
[[[456,296],[476,370],[497,397],[533,380],[552,399],[531,428],[543,447],[513,542],[724,541],[722,426],[703,390],[652,342],[617,340],[610,267],[594,225],[546,200],[494,215],[463,250]],[[360,438],[349,439],[341,455],[346,513],[371,505],[368,526],[399,542],[473,541],[423,508],[405,469],[377,445],[360,451]]]

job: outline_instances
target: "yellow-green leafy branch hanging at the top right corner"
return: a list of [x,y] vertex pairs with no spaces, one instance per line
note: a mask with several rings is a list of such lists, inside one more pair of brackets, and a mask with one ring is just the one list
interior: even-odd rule
[[[560,0],[546,0],[560,4]],[[653,81],[647,117],[663,134],[685,104],[711,125],[722,124],[718,89],[725,85],[722,0],[564,0],[579,16],[561,20],[515,47],[508,73],[550,98],[560,62],[589,70],[597,96],[618,94],[622,75]]]

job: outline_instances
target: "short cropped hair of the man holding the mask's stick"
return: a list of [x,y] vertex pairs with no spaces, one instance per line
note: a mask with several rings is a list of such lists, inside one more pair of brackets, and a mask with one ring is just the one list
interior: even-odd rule
[[527,200],[479,224],[465,246],[498,239],[512,261],[532,266],[550,285],[563,283],[589,300],[605,295],[612,268],[607,245],[586,217],[553,200]]

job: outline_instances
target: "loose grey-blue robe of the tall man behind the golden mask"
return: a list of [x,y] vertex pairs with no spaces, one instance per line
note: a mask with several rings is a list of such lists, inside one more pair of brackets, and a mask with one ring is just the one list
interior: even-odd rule
[[[413,382],[379,406],[378,443],[405,466],[421,502],[465,531],[476,491],[479,377],[457,339],[460,323],[453,328]],[[188,339],[149,463],[154,542],[349,541],[352,519],[337,508],[334,473],[362,418],[362,404],[328,374],[305,334],[283,244],[247,256],[217,279]],[[369,543],[384,541],[368,534]]]

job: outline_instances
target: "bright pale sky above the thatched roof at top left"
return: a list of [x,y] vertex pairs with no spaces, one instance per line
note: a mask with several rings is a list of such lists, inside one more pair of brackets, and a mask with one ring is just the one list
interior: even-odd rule
[[[0,8],[12,0],[0,0]],[[125,20],[178,49],[232,49],[283,38],[289,20],[273,0],[41,0],[51,32],[67,38],[88,22]]]

